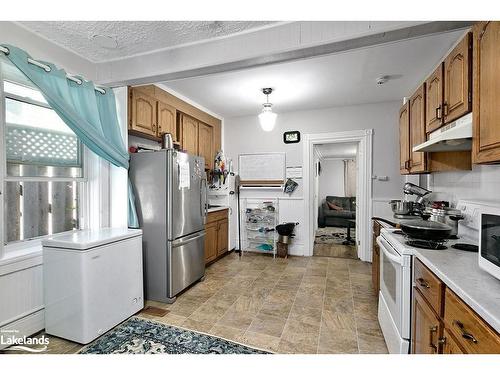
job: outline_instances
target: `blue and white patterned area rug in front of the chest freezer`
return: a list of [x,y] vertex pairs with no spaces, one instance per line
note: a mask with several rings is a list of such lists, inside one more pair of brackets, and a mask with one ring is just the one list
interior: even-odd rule
[[182,328],[132,317],[80,354],[269,354]]

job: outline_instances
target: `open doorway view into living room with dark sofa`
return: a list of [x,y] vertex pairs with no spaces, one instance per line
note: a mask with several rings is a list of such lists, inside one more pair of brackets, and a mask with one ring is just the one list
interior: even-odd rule
[[313,146],[314,256],[358,259],[357,154],[358,142]]

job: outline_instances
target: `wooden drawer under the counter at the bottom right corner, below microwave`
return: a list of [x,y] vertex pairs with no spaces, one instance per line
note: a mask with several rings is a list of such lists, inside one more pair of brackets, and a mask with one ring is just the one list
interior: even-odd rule
[[444,323],[468,353],[500,353],[500,335],[446,288]]

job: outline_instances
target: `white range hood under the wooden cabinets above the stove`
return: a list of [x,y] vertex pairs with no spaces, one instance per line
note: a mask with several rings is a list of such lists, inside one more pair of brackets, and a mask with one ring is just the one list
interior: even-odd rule
[[472,150],[472,113],[429,134],[429,140],[413,151],[445,152]]

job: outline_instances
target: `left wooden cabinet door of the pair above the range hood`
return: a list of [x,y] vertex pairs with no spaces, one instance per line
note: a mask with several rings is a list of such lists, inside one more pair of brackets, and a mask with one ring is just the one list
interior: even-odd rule
[[443,64],[425,81],[425,131],[430,133],[443,124]]

